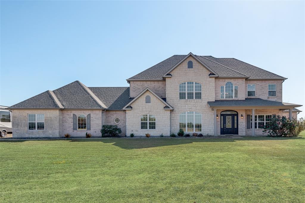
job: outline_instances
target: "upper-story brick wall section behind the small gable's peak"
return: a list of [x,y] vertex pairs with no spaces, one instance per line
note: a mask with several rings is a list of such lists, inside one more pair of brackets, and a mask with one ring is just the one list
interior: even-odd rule
[[146,87],[151,89],[156,95],[165,98],[165,81],[130,81],[130,97],[138,96]]

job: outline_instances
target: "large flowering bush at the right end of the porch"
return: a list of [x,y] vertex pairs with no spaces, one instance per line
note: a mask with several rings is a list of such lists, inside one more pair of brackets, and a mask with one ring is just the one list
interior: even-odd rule
[[296,137],[305,129],[305,120],[289,120],[285,116],[275,116],[264,127],[263,133],[272,137]]

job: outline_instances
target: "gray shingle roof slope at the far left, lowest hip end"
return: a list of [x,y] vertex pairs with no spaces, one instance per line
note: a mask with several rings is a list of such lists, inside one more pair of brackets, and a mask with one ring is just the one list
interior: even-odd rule
[[17,103],[8,109],[27,109],[27,108],[35,108],[35,109],[59,109],[60,107],[56,104],[49,91],[45,91],[36,96],[33,96],[27,100],[24,100],[20,103]]

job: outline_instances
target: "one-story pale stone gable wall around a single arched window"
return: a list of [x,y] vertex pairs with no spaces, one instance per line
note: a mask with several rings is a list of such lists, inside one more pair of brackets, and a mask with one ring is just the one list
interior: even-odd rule
[[[151,103],[145,103],[145,96],[151,96]],[[145,136],[149,133],[152,136],[170,135],[170,110],[164,110],[164,103],[149,91],[146,91],[134,103],[132,110],[126,110],[126,133]],[[156,129],[141,129],[141,116],[152,114],[156,116]]]

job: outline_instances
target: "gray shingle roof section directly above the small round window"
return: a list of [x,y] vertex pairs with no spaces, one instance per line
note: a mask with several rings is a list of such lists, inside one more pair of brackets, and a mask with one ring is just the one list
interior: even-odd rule
[[107,110],[122,110],[132,99],[129,98],[129,87],[89,87],[102,101]]

